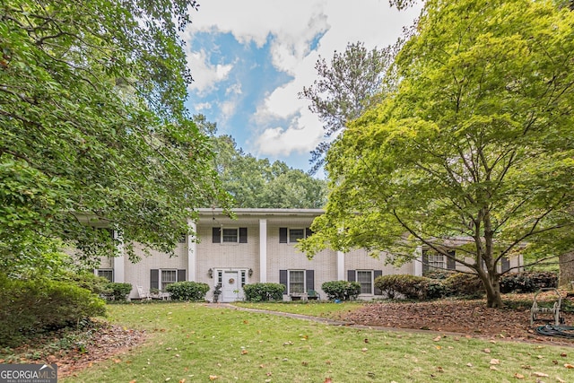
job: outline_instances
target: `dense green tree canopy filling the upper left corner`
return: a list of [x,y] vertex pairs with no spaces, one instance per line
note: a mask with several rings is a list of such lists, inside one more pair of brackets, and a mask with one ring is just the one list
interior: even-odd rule
[[[0,5],[0,265],[60,238],[86,259],[100,224],[170,251],[196,207],[227,205],[187,118],[178,39],[195,0]],[[95,220],[95,221],[94,221]],[[97,222],[96,222],[97,221]],[[105,246],[103,248],[106,248]],[[133,253],[132,253],[133,254]]]

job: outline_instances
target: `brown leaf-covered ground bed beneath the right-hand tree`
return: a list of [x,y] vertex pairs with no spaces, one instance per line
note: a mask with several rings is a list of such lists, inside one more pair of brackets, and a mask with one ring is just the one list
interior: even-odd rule
[[[522,297],[524,299],[524,297]],[[550,319],[552,315],[541,314]],[[571,326],[574,314],[562,312]],[[342,320],[355,325],[383,326],[459,333],[477,337],[574,346],[574,339],[538,335],[537,321],[530,326],[530,309],[525,304],[514,309],[488,309],[484,300],[439,300],[432,302],[380,302],[364,305],[344,314]]]

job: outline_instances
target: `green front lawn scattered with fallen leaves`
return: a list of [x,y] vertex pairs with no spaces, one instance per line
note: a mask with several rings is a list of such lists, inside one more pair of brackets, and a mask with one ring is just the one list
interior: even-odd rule
[[[302,314],[335,305],[279,306]],[[145,344],[61,383],[209,382],[210,375],[215,382],[574,381],[564,367],[574,364],[568,347],[328,326],[195,303],[112,305],[109,317],[145,329]]]

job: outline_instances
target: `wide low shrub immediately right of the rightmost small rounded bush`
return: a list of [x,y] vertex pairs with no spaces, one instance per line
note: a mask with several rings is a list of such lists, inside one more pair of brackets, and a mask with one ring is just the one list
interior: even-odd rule
[[397,298],[397,294],[410,300],[436,299],[442,297],[446,290],[437,280],[409,274],[378,276],[375,279],[375,286],[390,299]]

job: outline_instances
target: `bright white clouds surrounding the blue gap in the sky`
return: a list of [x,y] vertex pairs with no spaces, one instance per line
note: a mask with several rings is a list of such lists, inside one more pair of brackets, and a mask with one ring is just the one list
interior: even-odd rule
[[[387,47],[396,41],[404,26],[412,24],[420,8],[421,5],[398,12],[389,9],[387,0],[213,0],[203,2],[199,13],[192,13],[193,24],[187,34],[193,39],[194,31],[229,32],[239,42],[253,42],[257,47],[269,41],[272,64],[293,79],[259,101],[250,124],[255,130],[239,134],[247,135],[246,141],[253,139],[259,153],[287,156],[291,152],[308,153],[322,140],[320,121],[309,111],[308,101],[297,98],[298,92],[317,78],[315,64],[319,55],[329,61],[335,50],[342,52],[347,43],[356,41],[362,41],[366,48]],[[320,39],[314,41],[317,36]],[[311,49],[313,42],[317,46]],[[230,65],[218,71],[205,64],[209,57],[204,52],[195,57],[191,68],[201,74],[201,80],[196,76],[197,90],[211,89],[230,72]],[[237,91],[231,92],[230,99],[236,95]],[[233,105],[232,101],[223,105],[222,113],[230,117],[236,110]],[[289,123],[282,125],[277,121]]]

